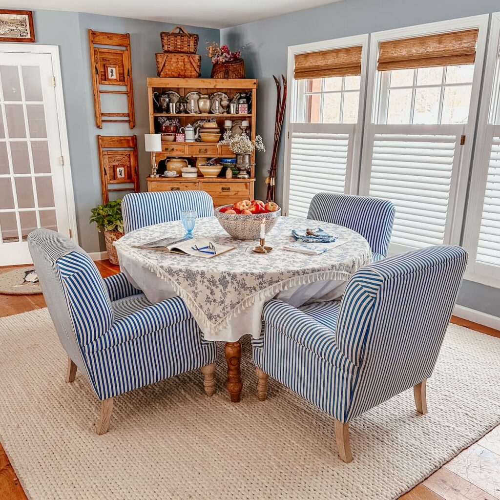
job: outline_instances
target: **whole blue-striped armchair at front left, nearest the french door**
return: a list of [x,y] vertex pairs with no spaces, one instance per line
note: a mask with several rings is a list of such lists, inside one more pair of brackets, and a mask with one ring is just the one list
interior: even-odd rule
[[59,340],[66,381],[78,368],[101,401],[97,434],[109,425],[113,397],[200,368],[214,391],[215,343],[203,340],[179,297],[151,304],[124,274],[102,279],[94,262],[61,234],[37,229],[28,246]]

